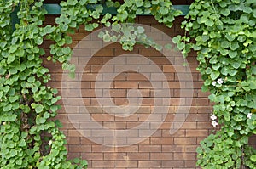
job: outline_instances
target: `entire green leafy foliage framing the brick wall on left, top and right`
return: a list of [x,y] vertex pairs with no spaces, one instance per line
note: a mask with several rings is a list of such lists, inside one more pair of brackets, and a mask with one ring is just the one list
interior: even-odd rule
[[[118,8],[117,14],[104,14],[102,1],[67,0],[62,2],[56,25],[44,25],[43,0],[5,0],[0,2],[0,166],[1,168],[85,168],[86,161],[67,161],[60,122],[53,121],[60,106],[57,91],[47,86],[49,70],[42,65],[44,38],[50,45],[48,60],[60,62],[64,70],[74,71],[68,62],[72,55],[68,33],[79,25],[86,31],[112,26],[99,37],[120,42],[132,50],[139,42],[158,50],[162,47],[144,34],[134,22],[137,14],[153,14],[155,20],[172,27],[180,11],[166,0],[106,1]],[[93,7],[93,8],[91,8]],[[256,3],[255,0],[195,0],[185,36],[173,41],[184,56],[193,48],[198,53],[198,70],[215,103],[212,126],[220,130],[201,142],[198,165],[203,168],[256,167],[256,150],[248,138],[256,133]],[[19,24],[11,27],[10,14],[18,8]]]

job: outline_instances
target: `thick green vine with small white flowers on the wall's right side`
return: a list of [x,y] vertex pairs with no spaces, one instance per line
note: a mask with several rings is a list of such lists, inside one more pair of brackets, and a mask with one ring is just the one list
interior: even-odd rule
[[256,168],[256,3],[254,0],[195,0],[173,41],[186,56],[197,51],[203,91],[214,102],[212,126],[220,130],[201,141],[202,168]]

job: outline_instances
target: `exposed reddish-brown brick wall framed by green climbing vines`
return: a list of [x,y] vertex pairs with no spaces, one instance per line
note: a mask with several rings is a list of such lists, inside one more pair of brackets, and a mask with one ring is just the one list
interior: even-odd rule
[[[177,1],[176,4],[189,4],[191,1]],[[47,16],[46,23],[53,24],[55,16]],[[152,16],[138,16],[137,22],[153,26],[160,31],[165,32],[170,37],[183,34],[179,26],[183,17],[177,17],[171,29],[158,24]],[[84,37],[89,35],[83,30],[83,26],[74,34],[73,48],[77,43],[79,45],[88,44]],[[154,37],[154,33],[152,34]],[[156,37],[164,41],[166,37]],[[42,47],[49,54],[49,44],[44,42]],[[52,81],[49,85],[60,90],[63,98],[68,95],[69,105],[62,105],[60,114],[57,116],[62,121],[63,132],[67,135],[68,158],[83,157],[89,162],[89,168],[197,168],[195,149],[201,139],[206,138],[212,130],[210,114],[212,113],[212,104],[207,99],[209,93],[201,92],[201,76],[195,70],[198,62],[196,54],[191,53],[187,59],[189,66],[184,67],[181,63],[183,58],[179,55],[172,57],[172,63],[166,57],[154,48],[144,48],[137,45],[132,52],[123,51],[121,46],[116,44],[108,45],[99,51],[96,48],[101,47],[97,42],[90,42],[86,49],[77,49],[74,51],[75,57],[73,63],[77,65],[76,76],[73,80],[65,79],[62,76],[61,65],[53,64],[44,58],[44,65],[49,68],[52,75]],[[90,54],[94,54],[84,66],[84,62]],[[140,60],[140,71],[127,70],[120,72],[125,67],[136,66],[136,58],[116,61],[119,64],[111,64],[111,60],[121,54],[140,54],[147,60]],[[122,65],[122,64],[123,65]],[[162,74],[151,72],[150,67],[154,63]],[[104,65],[104,73],[101,69]],[[191,70],[193,82],[188,82],[186,72]],[[116,73],[116,76],[113,74]],[[166,83],[161,82],[161,75],[166,76]],[[182,76],[181,76],[182,75]],[[78,82],[79,81],[79,82]],[[100,82],[100,83],[97,83]],[[155,89],[154,85],[157,87]],[[163,91],[160,91],[160,89]],[[168,89],[171,99],[164,89]],[[189,91],[193,93],[189,95]],[[61,90],[62,89],[62,90]],[[141,95],[137,95],[138,91]],[[189,97],[188,97],[189,96]],[[129,100],[131,99],[131,100]],[[99,103],[98,99],[102,99]],[[132,115],[120,116],[119,113],[108,114],[109,103],[104,105],[104,99],[111,99],[113,104],[125,106],[131,101],[137,104],[141,99],[140,108]],[[155,99],[158,98],[158,99]],[[82,100],[82,101],[81,101]],[[65,103],[61,100],[60,104]],[[138,127],[143,121],[150,121],[148,118],[156,111],[155,104],[166,105],[169,110],[167,115],[158,112],[148,125],[148,128],[156,128],[156,131],[149,137],[137,144],[131,144],[126,147],[109,147],[102,145],[107,141],[115,141],[108,137],[106,132],[91,132],[88,126],[81,123],[87,121],[82,113],[84,106],[89,112],[90,117],[97,122],[99,126],[113,130],[128,130]],[[105,107],[104,107],[105,106]],[[64,109],[65,107],[65,109]],[[124,113],[124,112],[122,112]],[[70,121],[70,115],[78,122]],[[158,125],[157,121],[162,121]],[[183,122],[184,121],[184,122]],[[89,122],[87,124],[90,124]],[[93,124],[93,123],[91,123]],[[144,130],[128,133],[124,138],[126,144],[134,143],[137,137],[150,134],[146,127]],[[170,129],[179,128],[176,132],[170,134]],[[88,130],[87,130],[88,129]],[[82,131],[82,132],[81,132]],[[97,143],[84,137],[95,138]],[[99,134],[100,133],[100,134]],[[252,139],[255,142],[255,138]],[[100,144],[102,143],[102,144]]]

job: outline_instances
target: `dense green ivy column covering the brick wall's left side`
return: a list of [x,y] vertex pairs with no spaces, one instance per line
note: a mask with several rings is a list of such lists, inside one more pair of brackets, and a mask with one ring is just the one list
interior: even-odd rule
[[[46,85],[50,75],[42,66],[45,53],[39,45],[57,27],[43,26],[47,12],[42,5],[33,0],[0,2],[0,167],[85,168],[86,161],[67,161],[65,135],[59,122],[50,120],[60,109],[60,96]],[[10,13],[16,6],[20,24],[13,32]]]

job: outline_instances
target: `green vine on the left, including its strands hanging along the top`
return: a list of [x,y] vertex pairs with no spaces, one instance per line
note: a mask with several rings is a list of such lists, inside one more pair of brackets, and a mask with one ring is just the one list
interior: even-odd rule
[[[9,168],[72,169],[86,168],[87,161],[79,158],[67,161],[65,135],[54,121],[60,106],[57,90],[49,87],[49,70],[42,63],[44,39],[54,42],[50,45],[47,59],[60,62],[63,70],[71,75],[75,67],[69,64],[72,43],[68,36],[85,25],[86,31],[98,26],[112,26],[119,32],[101,32],[104,41],[119,41],[125,50],[132,50],[136,42],[152,46],[160,45],[148,38],[143,27],[132,24],[136,14],[153,14],[155,19],[172,26],[175,16],[181,12],[172,8],[166,0],[106,1],[108,7],[115,7],[117,14],[104,14],[102,1],[67,0],[62,2],[61,16],[56,25],[44,25],[44,0],[5,0],[0,2],[0,166]],[[18,9],[19,23],[15,30],[11,26],[11,13]],[[128,35],[131,35],[130,37]]]

